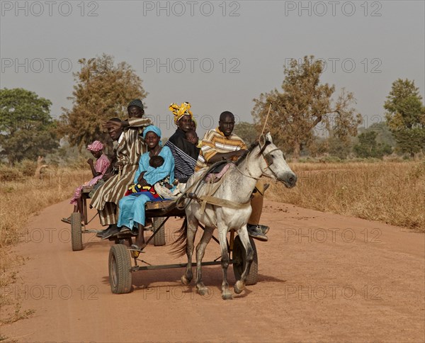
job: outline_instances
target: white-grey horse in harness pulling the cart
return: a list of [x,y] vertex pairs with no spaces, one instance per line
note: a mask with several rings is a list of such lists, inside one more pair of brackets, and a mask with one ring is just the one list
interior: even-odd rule
[[[202,196],[211,195],[208,194],[208,188],[211,185],[208,186],[203,181],[204,170],[201,169],[193,174],[186,184],[186,190],[196,187],[196,198],[198,199]],[[261,135],[259,140],[249,147],[243,157],[240,157],[236,163],[230,164],[229,169],[222,176],[222,184],[212,194],[216,200],[222,201],[221,204],[220,201],[218,203],[217,201],[213,202],[214,204],[207,201],[206,204],[202,204],[186,198],[187,225],[182,227],[175,243],[177,243],[177,251],[180,252],[180,256],[186,251],[188,257],[186,272],[181,276],[181,282],[187,286],[193,278],[192,254],[196,230],[198,230],[199,223],[205,225],[201,240],[196,247],[196,288],[201,296],[208,293],[208,288],[202,281],[202,259],[215,227],[217,227],[222,253],[222,298],[224,300],[232,299],[232,293],[227,282],[227,268],[229,266],[227,232],[232,229],[236,230],[239,235],[246,252],[247,262],[241,279],[234,285],[234,292],[239,294],[244,290],[246,276],[249,274],[249,268],[254,259],[254,250],[249,242],[246,223],[248,223],[251,215],[251,194],[261,176],[268,176],[281,181],[287,188],[293,188],[297,182],[297,176],[286,163],[283,152],[273,144],[270,133]],[[237,206],[234,206],[235,204]]]

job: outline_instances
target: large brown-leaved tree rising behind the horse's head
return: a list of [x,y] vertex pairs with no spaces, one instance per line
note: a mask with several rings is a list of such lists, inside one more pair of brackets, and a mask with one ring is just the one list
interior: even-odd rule
[[340,140],[348,140],[357,134],[361,123],[360,113],[352,107],[353,94],[342,89],[333,103],[331,96],[335,86],[320,84],[322,70],[322,62],[314,60],[314,56],[305,56],[300,64],[293,60],[284,68],[283,92],[274,89],[254,99],[254,123],[263,125],[271,104],[267,130],[271,131],[273,142],[292,151],[294,159],[299,157],[301,148],[311,142],[317,125],[332,130]]

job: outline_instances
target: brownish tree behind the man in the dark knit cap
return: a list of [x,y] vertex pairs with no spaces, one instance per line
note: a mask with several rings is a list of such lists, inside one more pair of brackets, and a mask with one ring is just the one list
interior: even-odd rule
[[79,63],[81,71],[74,73],[76,84],[68,98],[73,106],[71,110],[62,108],[59,132],[81,149],[94,140],[108,142],[102,124],[113,117],[125,118],[127,104],[132,99],[145,99],[147,93],[126,62],[115,65],[112,56],[103,54]]

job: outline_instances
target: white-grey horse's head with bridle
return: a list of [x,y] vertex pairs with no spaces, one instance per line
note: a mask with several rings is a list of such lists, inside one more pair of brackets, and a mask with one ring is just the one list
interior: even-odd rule
[[282,150],[273,144],[270,133],[259,137],[259,150],[257,158],[263,159],[260,164],[263,175],[283,182],[288,188],[293,188],[297,183],[297,176],[286,163]]

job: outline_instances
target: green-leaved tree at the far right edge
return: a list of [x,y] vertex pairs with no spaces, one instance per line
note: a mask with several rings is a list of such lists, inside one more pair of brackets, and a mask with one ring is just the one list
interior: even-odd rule
[[388,126],[399,152],[411,157],[425,148],[425,107],[414,81],[397,79],[384,103]]

